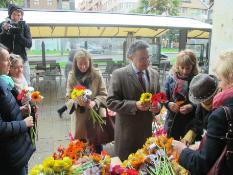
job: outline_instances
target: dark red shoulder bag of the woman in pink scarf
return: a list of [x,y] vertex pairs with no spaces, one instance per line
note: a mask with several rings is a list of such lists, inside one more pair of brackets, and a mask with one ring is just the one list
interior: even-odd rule
[[233,130],[232,130],[232,112],[231,109],[228,107],[223,107],[225,113],[226,113],[226,118],[227,118],[227,134],[226,134],[226,141],[227,144],[224,147],[221,155],[219,158],[216,160],[214,165],[211,167],[207,175],[227,175],[227,174],[232,174],[232,162],[233,161],[233,152],[232,152],[232,140],[233,140]]

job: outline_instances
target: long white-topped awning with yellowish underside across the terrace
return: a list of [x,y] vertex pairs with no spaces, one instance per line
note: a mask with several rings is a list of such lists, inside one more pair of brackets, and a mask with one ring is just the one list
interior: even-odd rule
[[[0,11],[0,21],[7,11]],[[29,24],[33,38],[106,38],[134,37],[154,38],[169,29],[187,29],[188,38],[208,38],[212,26],[183,17],[155,15],[108,14],[70,11],[25,10],[24,20]]]

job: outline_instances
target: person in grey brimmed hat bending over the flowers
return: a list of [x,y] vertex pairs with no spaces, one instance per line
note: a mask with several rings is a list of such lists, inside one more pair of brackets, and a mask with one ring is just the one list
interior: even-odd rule
[[213,98],[217,92],[218,80],[214,75],[198,74],[192,79],[189,94],[196,97],[192,102],[197,104],[197,107],[195,118],[188,127],[189,131],[182,139],[183,143],[191,145],[194,141],[202,139],[203,131],[207,129],[208,118],[212,112]]

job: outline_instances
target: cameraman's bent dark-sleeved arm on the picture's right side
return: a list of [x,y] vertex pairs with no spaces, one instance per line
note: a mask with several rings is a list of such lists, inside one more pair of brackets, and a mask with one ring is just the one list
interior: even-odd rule
[[27,24],[25,24],[23,26],[23,32],[21,34],[16,34],[16,39],[24,47],[27,47],[27,48],[32,47],[31,32],[30,32],[30,28]]

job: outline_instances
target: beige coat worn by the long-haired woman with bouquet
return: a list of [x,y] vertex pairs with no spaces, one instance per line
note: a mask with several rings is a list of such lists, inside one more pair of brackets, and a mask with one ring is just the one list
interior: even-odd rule
[[[92,81],[90,85],[90,90],[92,91],[91,99],[94,100],[97,106],[99,107],[101,102],[106,102],[107,89],[100,71],[93,68],[93,71],[90,74],[90,76]],[[71,71],[68,75],[66,88],[66,97],[68,99],[66,104],[68,109],[70,109],[73,106],[74,101],[70,99],[70,94],[72,92],[72,89],[76,85],[80,85],[80,81],[78,81],[75,78],[73,72]],[[92,126],[89,110],[85,109],[84,113],[80,113],[79,110],[76,109],[73,116],[71,117],[71,131],[74,134],[74,138],[89,139],[87,138],[87,132],[93,133],[91,134],[91,137],[94,137],[94,128],[88,126]],[[90,134],[88,134],[88,136],[90,137]]]

